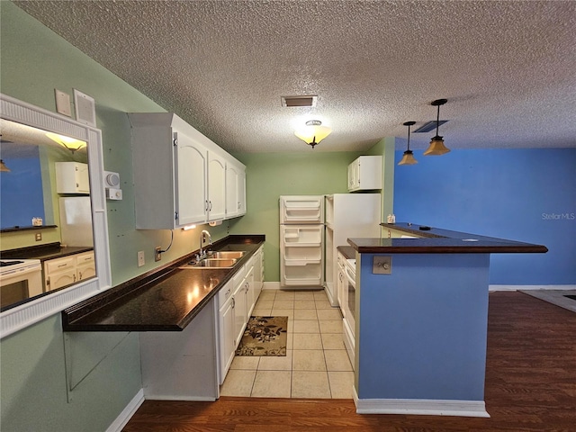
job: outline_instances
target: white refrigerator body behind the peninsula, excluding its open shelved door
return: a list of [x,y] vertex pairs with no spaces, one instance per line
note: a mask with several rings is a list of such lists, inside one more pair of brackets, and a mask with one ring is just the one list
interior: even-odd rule
[[380,193],[334,193],[326,195],[326,293],[332,306],[338,304],[338,246],[347,238],[380,238],[382,221]]

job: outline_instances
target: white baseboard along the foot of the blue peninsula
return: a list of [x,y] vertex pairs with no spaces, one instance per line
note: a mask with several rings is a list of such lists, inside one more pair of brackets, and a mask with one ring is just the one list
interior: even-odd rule
[[441,401],[428,399],[362,399],[354,392],[358,414],[404,414],[490,418],[484,401]]

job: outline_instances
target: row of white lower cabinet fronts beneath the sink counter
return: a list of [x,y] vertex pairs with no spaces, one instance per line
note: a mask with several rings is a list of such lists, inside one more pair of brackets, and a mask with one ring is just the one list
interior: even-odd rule
[[224,383],[236,348],[244,335],[244,330],[261,288],[255,284],[255,254],[218,293],[219,316],[219,383]]

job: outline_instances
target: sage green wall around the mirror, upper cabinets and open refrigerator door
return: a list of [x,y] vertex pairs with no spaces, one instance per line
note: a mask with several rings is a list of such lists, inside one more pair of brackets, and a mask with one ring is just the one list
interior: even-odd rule
[[[0,1],[0,91],[55,112],[54,88],[94,97],[96,125],[103,132],[106,170],[121,175],[123,200],[107,202],[112,283],[121,284],[199,247],[199,232],[175,230],[174,243],[154,263],[154,247],[167,247],[168,230],[134,229],[130,125],[126,112],[164,112],[144,94],[88,58],[10,2]],[[326,142],[328,145],[328,141]],[[379,152],[376,146],[371,151]],[[346,192],[347,164],[359,153],[238,154],[247,165],[247,215],[211,228],[213,239],[228,233],[266,234],[266,280],[278,281],[278,196]],[[137,266],[144,250],[146,265]],[[0,429],[8,431],[102,431],[141,389],[138,334],[85,333],[81,353],[94,369],[67,392],[65,342],[59,314],[0,341]],[[109,339],[109,340],[108,340]],[[91,344],[92,341],[92,344]],[[72,345],[70,345],[72,344]],[[88,358],[86,358],[88,357]]]

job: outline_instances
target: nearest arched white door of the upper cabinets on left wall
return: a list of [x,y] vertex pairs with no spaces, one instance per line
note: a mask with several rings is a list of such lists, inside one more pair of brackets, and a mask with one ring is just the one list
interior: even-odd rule
[[206,174],[208,150],[182,132],[175,132],[176,226],[208,220]]

